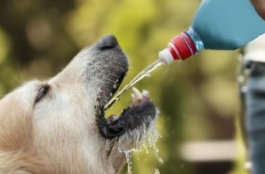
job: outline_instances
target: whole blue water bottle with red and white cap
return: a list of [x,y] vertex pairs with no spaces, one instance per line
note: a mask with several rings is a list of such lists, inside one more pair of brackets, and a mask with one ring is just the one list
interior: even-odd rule
[[184,61],[200,49],[233,50],[265,33],[250,0],[203,0],[187,31],[159,53],[162,63]]

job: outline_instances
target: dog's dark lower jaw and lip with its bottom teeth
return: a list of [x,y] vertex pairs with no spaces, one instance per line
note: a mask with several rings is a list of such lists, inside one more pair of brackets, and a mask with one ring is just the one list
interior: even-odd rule
[[113,139],[126,133],[132,136],[136,129],[149,129],[151,122],[156,118],[156,106],[149,100],[149,92],[143,90],[140,93],[137,88],[132,90],[132,104],[123,109],[121,116],[109,116],[105,119],[105,126],[100,127],[105,138]]

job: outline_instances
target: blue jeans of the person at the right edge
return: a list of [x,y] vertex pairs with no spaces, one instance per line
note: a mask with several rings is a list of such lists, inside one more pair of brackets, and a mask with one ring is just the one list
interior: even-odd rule
[[265,63],[253,62],[246,93],[246,126],[252,174],[265,173]]

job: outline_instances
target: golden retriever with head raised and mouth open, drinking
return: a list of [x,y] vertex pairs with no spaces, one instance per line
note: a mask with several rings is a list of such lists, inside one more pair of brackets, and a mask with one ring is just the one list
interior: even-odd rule
[[119,173],[156,120],[148,92],[135,89],[121,116],[104,106],[128,61],[113,35],[83,49],[47,81],[23,84],[0,101],[0,173]]

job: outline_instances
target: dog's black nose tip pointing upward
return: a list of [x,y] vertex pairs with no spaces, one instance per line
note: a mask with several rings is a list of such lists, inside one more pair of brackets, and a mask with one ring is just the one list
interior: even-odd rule
[[97,47],[101,50],[117,47],[118,41],[114,35],[106,35],[98,41]]

